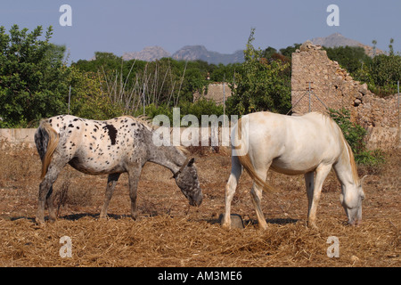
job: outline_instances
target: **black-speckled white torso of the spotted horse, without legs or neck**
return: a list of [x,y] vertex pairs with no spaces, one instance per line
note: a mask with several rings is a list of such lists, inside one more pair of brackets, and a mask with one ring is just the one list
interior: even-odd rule
[[62,115],[47,122],[60,134],[59,152],[70,165],[93,175],[124,172],[134,151],[140,155],[138,146],[145,141],[148,128],[129,116],[91,120]]

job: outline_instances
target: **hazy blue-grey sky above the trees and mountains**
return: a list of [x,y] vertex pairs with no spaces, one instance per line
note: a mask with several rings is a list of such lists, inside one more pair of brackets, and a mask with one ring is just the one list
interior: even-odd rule
[[[70,4],[72,26],[62,27],[61,4]],[[340,8],[340,26],[329,27],[328,5]],[[0,26],[54,28],[52,42],[66,45],[70,60],[90,59],[94,52],[122,55],[148,45],[174,53],[184,45],[210,51],[244,49],[250,28],[255,46],[280,49],[313,37],[340,32],[363,44],[401,52],[401,0],[1,0]]]

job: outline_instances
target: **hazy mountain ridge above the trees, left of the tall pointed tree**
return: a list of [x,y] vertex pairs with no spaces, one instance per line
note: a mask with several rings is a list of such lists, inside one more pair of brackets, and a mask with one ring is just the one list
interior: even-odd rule
[[243,62],[243,52],[217,53],[209,52],[203,45],[185,45],[183,48],[170,54],[160,46],[146,46],[141,52],[124,53],[122,58],[125,61],[137,59],[140,61],[156,61],[163,57],[172,57],[178,61],[207,61],[208,63],[234,63]]

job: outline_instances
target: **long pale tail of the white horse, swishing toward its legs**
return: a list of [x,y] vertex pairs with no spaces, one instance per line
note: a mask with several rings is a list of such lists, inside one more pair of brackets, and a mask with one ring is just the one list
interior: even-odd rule
[[[247,125],[247,124],[245,124]],[[246,127],[245,127],[246,128]],[[243,132],[245,131],[245,132]],[[234,141],[236,143],[236,146],[233,146],[233,149],[238,151],[241,149],[241,151],[237,152],[237,156],[238,159],[240,160],[240,163],[242,165],[242,167],[245,168],[245,170],[248,172],[248,174],[250,175],[250,178],[253,179],[253,181],[255,181],[255,183],[258,184],[258,186],[262,187],[262,189],[264,191],[274,191],[274,188],[269,185],[268,183],[266,183],[266,181],[264,181],[262,178],[259,177],[259,175],[257,174],[257,172],[255,171],[255,167],[253,167],[252,161],[250,160],[250,153],[249,153],[249,145],[242,145],[243,144],[247,144],[249,143],[249,140],[244,140],[243,137],[248,136],[248,134],[246,134],[248,130],[242,130],[242,122],[241,122],[241,118],[238,120],[237,123],[237,134],[232,134],[234,135]],[[241,140],[241,142],[239,142],[239,140]],[[247,150],[246,153],[243,153],[243,150]]]

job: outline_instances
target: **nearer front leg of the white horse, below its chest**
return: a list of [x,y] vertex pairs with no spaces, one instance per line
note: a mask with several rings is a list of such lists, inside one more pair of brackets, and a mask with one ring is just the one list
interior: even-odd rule
[[[313,193],[307,190],[307,196],[309,200],[309,211],[307,216],[307,224],[313,228],[316,227],[316,210],[319,203],[320,194],[322,192],[323,182],[331,170],[331,165],[320,165],[316,168],[316,179]],[[313,176],[312,176],[313,177]],[[312,201],[310,201],[310,197]]]

